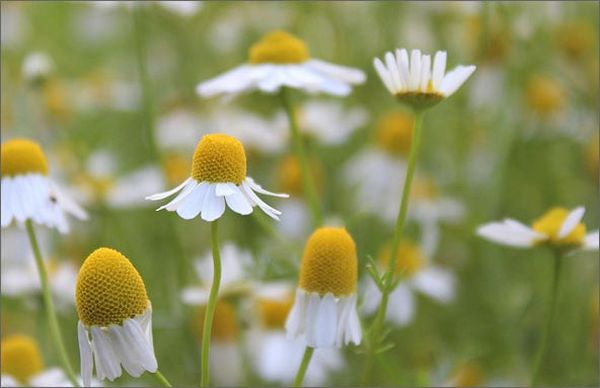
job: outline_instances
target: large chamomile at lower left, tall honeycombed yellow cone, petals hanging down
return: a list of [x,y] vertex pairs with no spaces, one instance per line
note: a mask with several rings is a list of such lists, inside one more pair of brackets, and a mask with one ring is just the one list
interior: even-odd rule
[[100,380],[113,381],[121,367],[133,377],[156,372],[152,305],[131,262],[114,249],[99,248],[83,263],[76,287],[84,385],[90,386],[94,363]]

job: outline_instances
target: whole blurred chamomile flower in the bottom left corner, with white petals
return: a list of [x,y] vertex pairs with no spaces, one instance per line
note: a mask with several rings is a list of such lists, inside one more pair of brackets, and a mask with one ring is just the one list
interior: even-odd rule
[[2,339],[0,375],[3,387],[72,387],[60,368],[44,369],[37,342],[27,335]]

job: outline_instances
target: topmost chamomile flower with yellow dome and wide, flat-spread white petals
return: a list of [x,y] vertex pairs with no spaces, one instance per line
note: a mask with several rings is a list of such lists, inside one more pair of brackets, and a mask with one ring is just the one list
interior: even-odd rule
[[250,48],[248,63],[200,83],[196,91],[203,97],[212,97],[235,96],[252,90],[276,93],[282,87],[290,87],[346,96],[352,85],[364,81],[362,71],[311,59],[302,40],[275,30]]

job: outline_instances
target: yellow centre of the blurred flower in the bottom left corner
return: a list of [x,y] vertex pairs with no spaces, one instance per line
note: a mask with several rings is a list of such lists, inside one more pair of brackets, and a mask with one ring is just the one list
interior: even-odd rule
[[26,335],[12,335],[2,340],[2,374],[27,384],[44,369],[42,356],[35,340]]

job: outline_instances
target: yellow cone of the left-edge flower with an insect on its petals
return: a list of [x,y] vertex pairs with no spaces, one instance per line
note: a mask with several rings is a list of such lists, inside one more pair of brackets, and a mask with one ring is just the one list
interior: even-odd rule
[[42,147],[27,139],[9,140],[2,144],[2,176],[38,173],[48,174],[48,161]]

